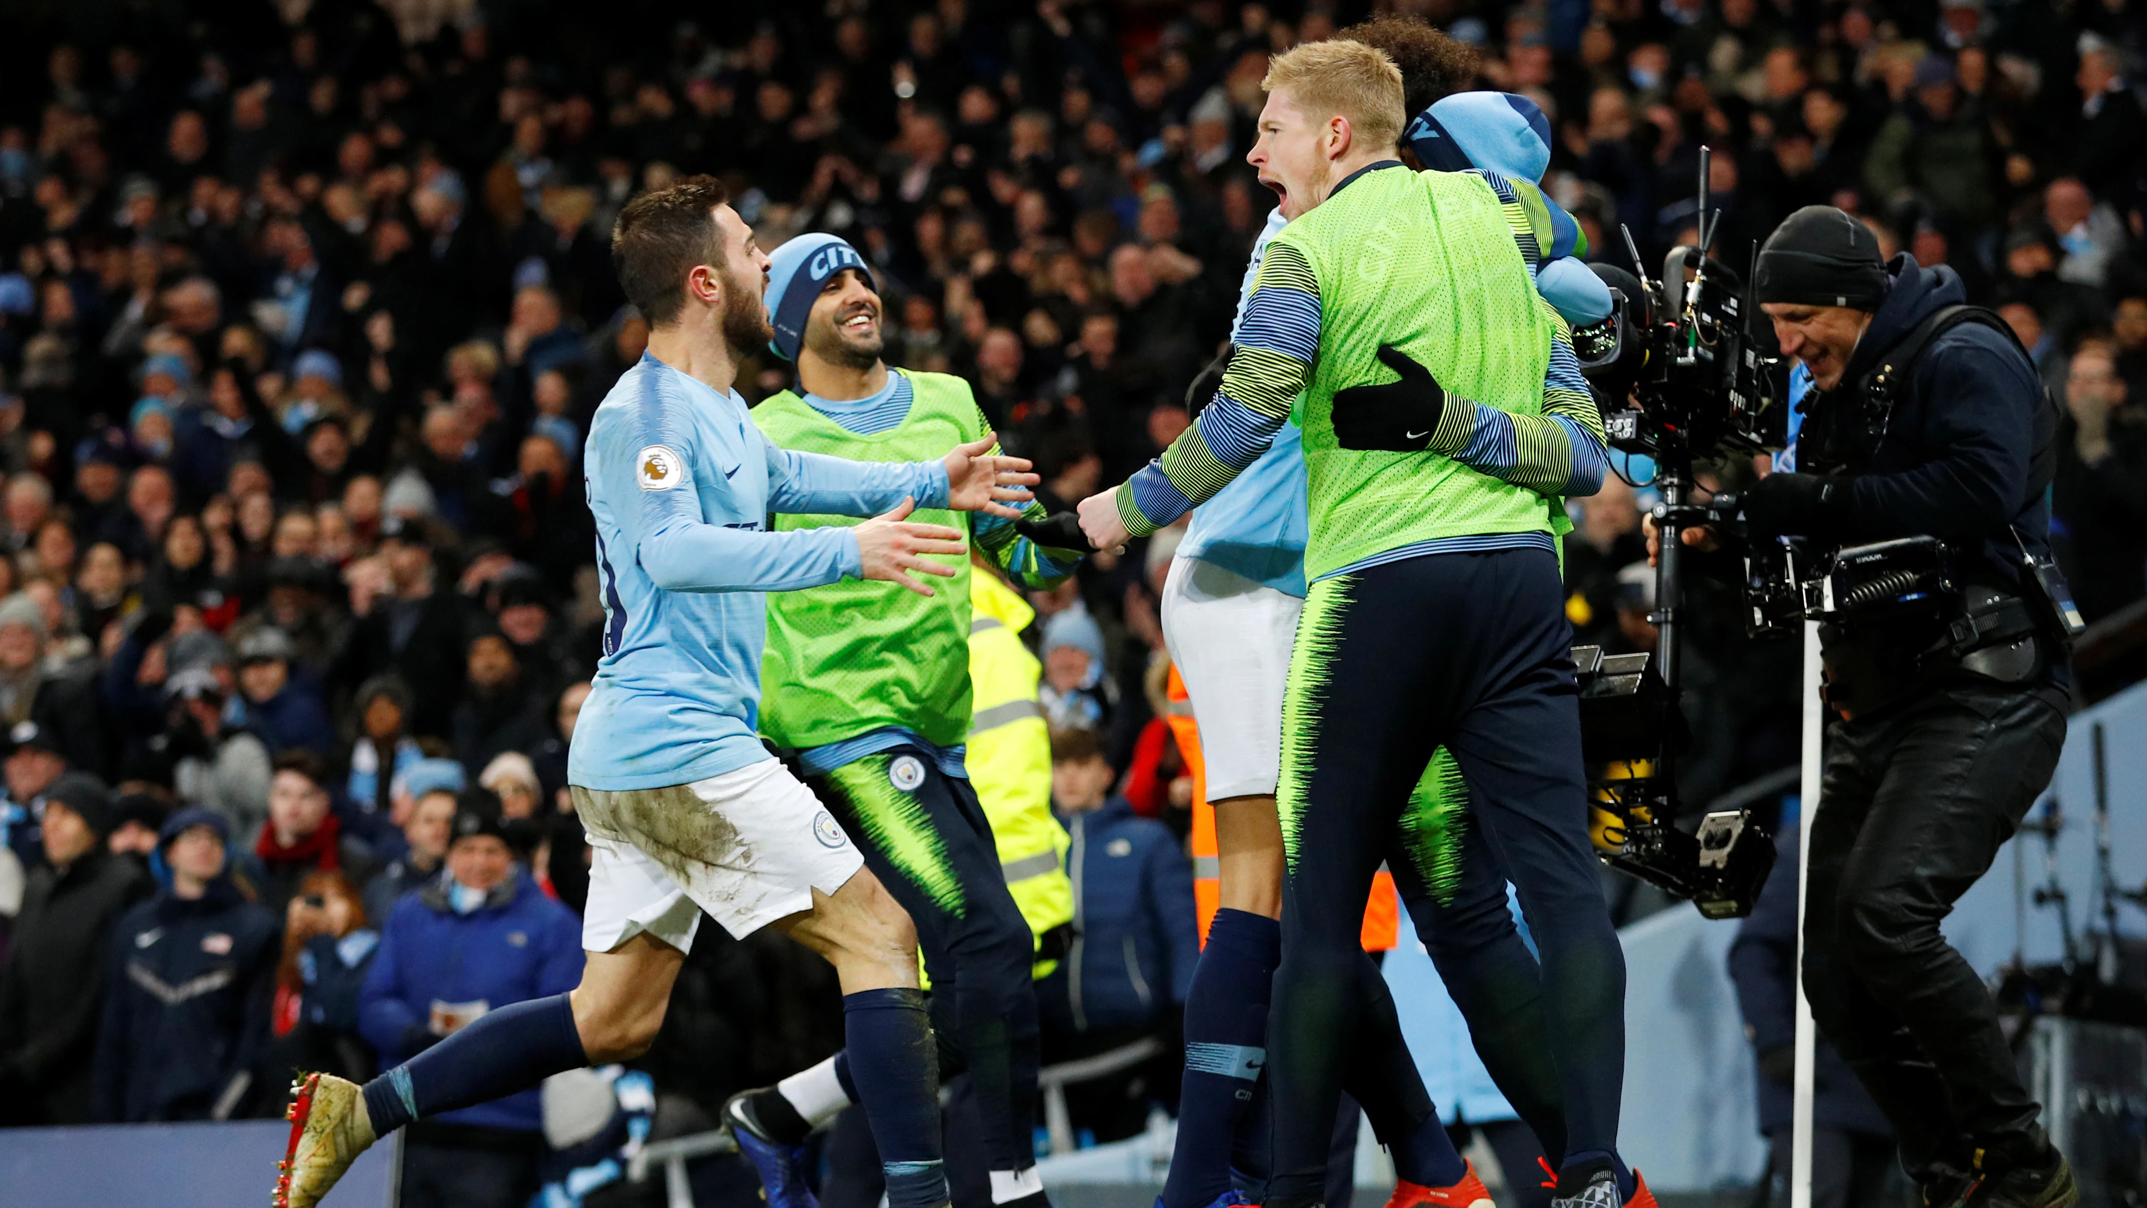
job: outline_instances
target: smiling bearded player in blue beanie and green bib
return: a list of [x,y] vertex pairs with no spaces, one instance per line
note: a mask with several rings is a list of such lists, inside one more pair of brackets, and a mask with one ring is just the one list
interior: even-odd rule
[[[771,348],[799,369],[799,393],[754,408],[771,444],[887,459],[988,438],[968,382],[880,360],[880,294],[855,247],[831,234],[801,234],[771,260]],[[1041,504],[1028,511],[1043,515]],[[1031,588],[1050,588],[1082,558],[1080,549],[1039,549],[1001,515],[919,519],[968,528],[998,569]],[[779,530],[809,532],[848,524],[831,515],[777,519]],[[1018,897],[1035,899],[1026,903],[1031,914],[1054,897],[1058,920],[1071,918],[1074,899],[1058,871],[1056,835],[1031,835],[1035,841],[1018,845],[1016,860],[1043,856],[1046,865],[1009,884],[1013,873],[1003,869],[968,783],[970,564],[949,558],[947,566],[953,579],[932,599],[870,581],[769,596],[760,732],[797,751],[814,792],[863,848],[865,867],[917,925],[934,1032],[975,1090],[990,1204],[1043,1204],[1031,1139],[1035,938]],[[1041,824],[1056,830],[1050,820]],[[850,1105],[848,1066],[848,1056],[831,1058],[724,1107],[724,1122],[760,1167],[771,1208],[809,1204],[801,1146],[816,1124]]]

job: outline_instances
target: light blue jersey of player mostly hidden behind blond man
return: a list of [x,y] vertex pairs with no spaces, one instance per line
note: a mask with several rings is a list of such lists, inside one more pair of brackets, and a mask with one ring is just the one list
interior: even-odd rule
[[[1230,339],[1237,339],[1237,328],[1245,322],[1245,298],[1252,294],[1252,279],[1260,272],[1267,242],[1284,225],[1288,219],[1277,206],[1267,215],[1267,225],[1252,245],[1252,264],[1245,266],[1245,279],[1237,288],[1237,320],[1230,324]],[[1247,466],[1215,498],[1194,509],[1179,554],[1235,571],[1277,592],[1303,596],[1305,536],[1310,532],[1305,511],[1303,433],[1295,423],[1286,423],[1258,461]]]

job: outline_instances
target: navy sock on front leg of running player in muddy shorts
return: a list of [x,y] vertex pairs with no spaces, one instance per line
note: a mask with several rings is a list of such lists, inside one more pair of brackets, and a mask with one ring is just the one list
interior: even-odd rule
[[[844,1054],[887,1174],[887,1208],[947,1208],[938,1051],[921,989],[842,996]],[[842,1069],[842,1066],[837,1066]]]

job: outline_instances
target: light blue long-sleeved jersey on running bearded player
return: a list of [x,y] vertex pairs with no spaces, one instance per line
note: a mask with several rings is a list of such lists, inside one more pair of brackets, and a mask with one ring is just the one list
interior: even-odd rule
[[766,592],[861,573],[848,528],[769,532],[771,513],[947,506],[938,461],[848,461],[769,444],[745,399],[642,356],[603,397],[582,455],[597,517],[603,659],[567,779],[668,787],[769,757],[760,745]]

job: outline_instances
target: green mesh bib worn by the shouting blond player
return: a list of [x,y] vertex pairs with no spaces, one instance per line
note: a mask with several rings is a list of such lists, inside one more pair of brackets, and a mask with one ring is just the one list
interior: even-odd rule
[[1393,378],[1381,343],[1430,367],[1449,395],[1542,414],[1554,320],[1490,185],[1368,172],[1284,227],[1284,242],[1320,281],[1320,358],[1303,399],[1305,575],[1438,536],[1550,532],[1550,509],[1529,487],[1430,453],[1346,451],[1333,433],[1335,391]]

